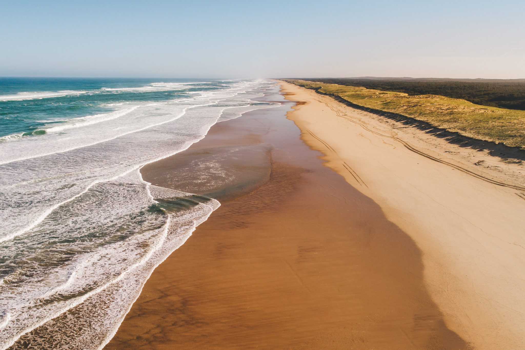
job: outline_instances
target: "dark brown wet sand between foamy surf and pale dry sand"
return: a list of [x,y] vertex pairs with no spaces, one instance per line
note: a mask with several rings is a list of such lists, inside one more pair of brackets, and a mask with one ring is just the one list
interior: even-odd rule
[[322,165],[289,106],[218,123],[142,169],[222,206],[153,272],[107,349],[467,348],[414,242]]

